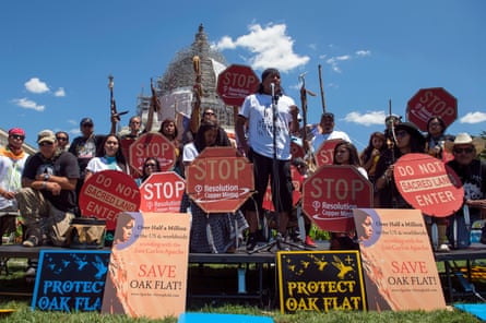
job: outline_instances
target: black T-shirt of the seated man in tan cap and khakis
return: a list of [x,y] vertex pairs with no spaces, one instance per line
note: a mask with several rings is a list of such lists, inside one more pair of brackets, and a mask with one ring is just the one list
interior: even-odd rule
[[[52,159],[45,158],[40,153],[31,156],[25,163],[22,177],[35,180],[36,175],[49,174],[67,178],[80,178],[78,160],[71,153],[61,152]],[[63,212],[73,212],[76,208],[75,191],[61,190],[59,195],[54,195],[47,190],[40,191],[45,199]]]

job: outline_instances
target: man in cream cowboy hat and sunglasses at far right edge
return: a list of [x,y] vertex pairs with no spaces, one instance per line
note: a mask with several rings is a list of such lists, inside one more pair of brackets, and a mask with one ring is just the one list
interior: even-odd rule
[[449,218],[447,230],[455,249],[471,244],[471,225],[486,211],[486,163],[477,158],[484,148],[484,139],[473,139],[467,133],[459,133],[453,142],[444,144],[444,149],[454,156],[446,165],[454,170],[464,188],[463,207]]

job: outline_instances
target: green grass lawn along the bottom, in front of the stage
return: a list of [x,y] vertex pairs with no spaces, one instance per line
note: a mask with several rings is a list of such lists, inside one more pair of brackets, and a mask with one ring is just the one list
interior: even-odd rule
[[[0,291],[5,289],[31,291],[33,289],[33,279],[28,280],[24,276],[26,267],[26,260],[11,260],[9,262],[10,275],[4,273],[0,275]],[[440,271],[440,267],[439,267]],[[224,275],[220,276],[223,277]],[[212,279],[212,277],[206,277]],[[224,280],[224,279],[221,279]],[[217,280],[212,280],[217,282]],[[477,280],[476,284],[482,284]],[[212,283],[213,284],[213,283]],[[224,284],[224,283],[223,283]],[[426,300],[425,300],[426,301]],[[466,299],[464,299],[466,301]],[[475,300],[477,301],[477,299]],[[163,304],[161,304],[163,306]],[[43,312],[39,310],[32,311],[29,296],[0,296],[0,309],[12,309],[13,313],[1,313],[0,320],[3,322],[177,322],[176,318],[166,318],[159,320],[150,319],[131,319],[126,315],[104,315],[97,312],[80,312],[80,313],[63,313],[63,312]],[[188,312],[204,312],[204,313],[232,313],[232,314],[248,314],[248,315],[263,315],[269,316],[276,323],[317,323],[317,322],[481,322],[475,316],[455,310],[449,307],[447,310],[424,312],[424,311],[407,311],[407,312],[298,312],[296,314],[281,314],[276,306],[261,306],[256,301],[238,301],[232,302],[225,299],[201,299],[189,300],[187,304]]]

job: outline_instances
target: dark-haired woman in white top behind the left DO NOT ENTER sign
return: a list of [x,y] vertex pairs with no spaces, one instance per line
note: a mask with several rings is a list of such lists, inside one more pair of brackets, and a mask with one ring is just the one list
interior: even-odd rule
[[118,170],[128,172],[127,162],[121,149],[120,139],[115,134],[105,136],[102,143],[103,149],[92,158],[86,166],[85,181],[93,174],[102,170]]

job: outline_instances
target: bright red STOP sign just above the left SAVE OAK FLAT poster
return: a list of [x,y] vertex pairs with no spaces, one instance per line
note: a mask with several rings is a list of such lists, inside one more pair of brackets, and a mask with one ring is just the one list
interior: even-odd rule
[[154,172],[140,186],[140,211],[178,213],[186,181],[175,171]]

